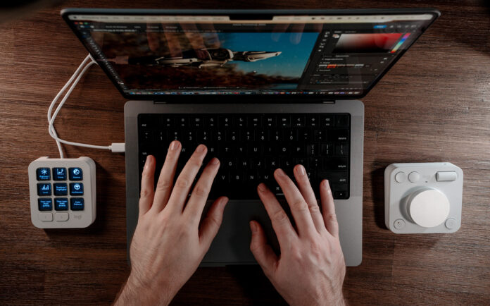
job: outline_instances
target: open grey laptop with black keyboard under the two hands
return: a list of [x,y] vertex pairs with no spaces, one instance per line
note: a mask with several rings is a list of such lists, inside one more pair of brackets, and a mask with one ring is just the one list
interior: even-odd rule
[[[306,166],[315,192],[327,178],[346,265],[362,261],[364,97],[439,11],[147,10],[67,8],[64,20],[125,104],[127,247],[138,219],[146,156],[163,165],[182,142],[218,157],[206,204],[230,203],[201,267],[253,264],[249,221],[277,238],[256,186],[287,209],[272,172]],[[206,161],[205,161],[206,162]],[[206,213],[206,211],[205,211]],[[128,252],[129,254],[129,252]]]

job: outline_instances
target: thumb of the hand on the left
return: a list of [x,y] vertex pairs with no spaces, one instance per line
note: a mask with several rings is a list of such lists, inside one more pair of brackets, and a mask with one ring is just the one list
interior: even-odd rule
[[227,197],[219,197],[209,209],[206,218],[203,219],[201,228],[199,229],[199,240],[206,247],[206,251],[209,249],[209,246],[220,229],[227,202]]

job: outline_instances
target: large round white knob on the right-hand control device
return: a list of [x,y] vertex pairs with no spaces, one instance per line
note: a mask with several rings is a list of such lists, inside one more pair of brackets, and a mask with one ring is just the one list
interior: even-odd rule
[[408,213],[412,220],[425,228],[438,226],[449,215],[449,200],[444,193],[434,188],[413,192],[408,199]]

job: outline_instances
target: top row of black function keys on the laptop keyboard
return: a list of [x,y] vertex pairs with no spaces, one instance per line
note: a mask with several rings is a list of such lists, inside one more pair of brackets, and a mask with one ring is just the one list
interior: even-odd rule
[[139,127],[158,128],[347,128],[349,114],[140,114]]

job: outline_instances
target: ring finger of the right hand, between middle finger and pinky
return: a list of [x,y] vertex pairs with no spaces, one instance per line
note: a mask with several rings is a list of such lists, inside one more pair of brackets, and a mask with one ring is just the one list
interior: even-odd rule
[[322,213],[320,212],[320,207],[318,207],[315,192],[313,192],[313,189],[311,188],[310,180],[306,175],[306,170],[303,165],[296,165],[294,167],[294,177],[296,178],[296,182],[298,182],[301,195],[303,195],[306,204],[308,204],[308,209],[310,209],[311,219],[313,219],[315,228],[318,233],[320,233],[320,231],[325,231]]

